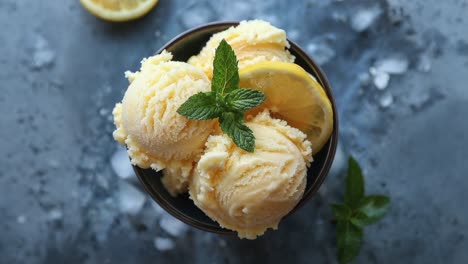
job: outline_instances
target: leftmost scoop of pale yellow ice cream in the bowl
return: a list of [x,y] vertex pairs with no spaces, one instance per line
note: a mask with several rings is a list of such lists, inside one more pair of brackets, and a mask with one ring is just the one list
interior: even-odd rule
[[114,138],[127,145],[132,163],[165,169],[163,184],[176,195],[187,190],[193,163],[216,121],[190,120],[176,112],[190,96],[209,91],[210,81],[200,69],[171,59],[163,51],[144,59],[140,71],[126,72],[130,86],[113,114]]

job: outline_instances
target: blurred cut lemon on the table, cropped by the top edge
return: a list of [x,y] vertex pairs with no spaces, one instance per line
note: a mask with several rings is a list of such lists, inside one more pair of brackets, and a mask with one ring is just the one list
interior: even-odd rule
[[123,22],[148,13],[159,0],[80,0],[91,14],[108,21]]

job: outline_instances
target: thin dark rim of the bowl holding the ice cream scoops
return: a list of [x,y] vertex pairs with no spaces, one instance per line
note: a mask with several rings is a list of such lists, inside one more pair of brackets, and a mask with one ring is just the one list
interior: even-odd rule
[[[222,27],[222,26],[225,26],[226,29],[227,29],[229,27],[238,25],[240,22],[241,21],[216,21],[216,22],[210,22],[210,23],[202,24],[202,25],[199,25],[197,27],[188,29],[188,30],[178,34],[177,36],[172,38],[170,41],[168,41],[166,44],[164,44],[155,54],[159,54],[163,50],[170,49],[172,46],[178,44],[180,41],[183,41],[184,38],[186,38],[187,36],[189,36],[190,34],[193,34],[195,32],[204,31],[204,30],[207,30],[207,29],[210,29],[210,28],[217,28],[217,27]],[[290,216],[291,214],[293,214],[297,210],[299,210],[301,207],[303,207],[304,204],[306,204],[314,196],[314,194],[318,191],[318,189],[322,186],[323,182],[325,181],[326,177],[328,176],[328,173],[330,171],[330,168],[331,168],[331,165],[333,163],[334,156],[335,156],[335,152],[336,152],[336,148],[337,148],[337,144],[338,144],[338,126],[339,126],[339,124],[338,124],[338,112],[337,112],[336,105],[335,105],[335,97],[333,95],[331,85],[330,85],[327,77],[325,76],[323,70],[316,63],[316,61],[311,56],[307,55],[307,53],[304,51],[304,49],[302,49],[297,43],[295,43],[294,41],[292,41],[290,39],[287,39],[287,40],[288,40],[288,42],[290,44],[289,50],[294,50],[297,53],[297,55],[299,57],[301,57],[301,59],[303,59],[306,62],[306,64],[308,64],[311,68],[314,69],[314,71],[315,71],[314,73],[316,74],[316,76],[314,76],[314,77],[316,77],[318,79],[319,83],[323,86],[323,88],[325,90],[325,93],[327,94],[328,99],[330,100],[330,103],[332,105],[334,124],[333,124],[333,132],[332,132],[332,134],[330,136],[330,139],[329,139],[330,144],[328,146],[328,149],[322,149],[321,150],[321,151],[326,150],[327,152],[326,152],[326,156],[325,156],[325,159],[324,159],[323,166],[320,169],[320,171],[318,172],[318,175],[315,177],[315,181],[313,183],[311,183],[311,185],[310,185],[311,188],[306,189],[306,191],[304,192],[301,200],[297,203],[297,205],[287,215],[285,215],[282,218],[282,220],[285,219],[286,217]],[[145,191],[151,196],[151,198],[160,207],[162,207],[166,212],[168,212],[169,214],[171,214],[172,216],[174,216],[178,220],[180,220],[180,221],[184,222],[185,224],[188,224],[188,225],[190,225],[192,227],[195,227],[195,228],[207,231],[207,232],[211,232],[211,233],[226,234],[226,235],[235,235],[236,234],[236,232],[233,231],[233,230],[222,228],[219,225],[219,223],[217,223],[216,221],[214,221],[214,222],[216,222],[216,224],[218,224],[218,228],[213,228],[213,225],[209,225],[209,224],[207,224],[205,222],[195,220],[195,219],[193,219],[191,217],[188,217],[185,214],[181,213],[171,203],[167,202],[166,199],[161,194],[159,194],[158,192],[155,192],[155,191],[152,190],[152,188],[150,187],[151,184],[149,182],[147,182],[145,177],[143,177],[142,174],[140,173],[140,170],[142,170],[141,168],[139,168],[138,166],[133,165],[133,169],[134,169],[135,174],[136,174],[137,178],[139,179],[140,183],[143,185]]]

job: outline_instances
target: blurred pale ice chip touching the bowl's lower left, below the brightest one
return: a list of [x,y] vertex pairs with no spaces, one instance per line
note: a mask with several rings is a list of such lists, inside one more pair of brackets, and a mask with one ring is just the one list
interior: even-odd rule
[[122,213],[136,215],[145,204],[146,196],[136,187],[121,181],[119,182],[118,199]]

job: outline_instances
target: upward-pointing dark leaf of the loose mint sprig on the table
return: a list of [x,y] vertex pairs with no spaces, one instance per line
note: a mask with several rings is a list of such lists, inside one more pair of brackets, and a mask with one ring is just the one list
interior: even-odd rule
[[362,176],[362,170],[357,161],[353,157],[349,157],[344,200],[351,209],[355,209],[359,206],[362,198],[364,198],[364,177]]

